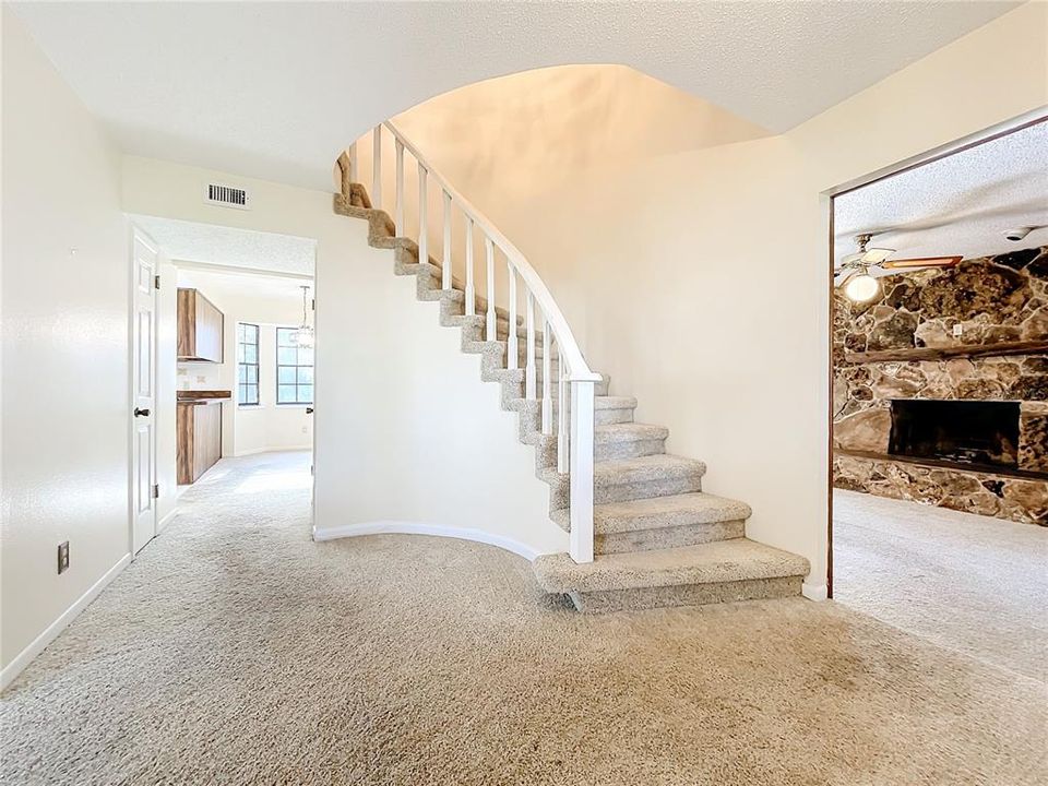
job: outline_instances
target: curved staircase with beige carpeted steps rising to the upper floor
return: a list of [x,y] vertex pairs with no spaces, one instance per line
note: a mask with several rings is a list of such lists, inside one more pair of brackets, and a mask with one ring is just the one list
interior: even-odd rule
[[[391,124],[385,128],[394,134],[402,155],[402,145],[409,143]],[[374,148],[378,168],[378,143]],[[432,172],[418,152],[409,150],[420,170],[426,166],[427,172]],[[472,283],[452,277],[450,270],[444,271],[426,252],[425,261],[419,261],[419,245],[398,237],[393,218],[372,206],[367,190],[353,177],[355,156],[341,157],[340,167],[343,187],[342,193],[334,195],[335,212],[367,221],[369,243],[393,251],[393,272],[416,276],[418,299],[439,300],[440,324],[458,327],[462,350],[481,356],[481,379],[501,385],[502,407],[517,414],[521,441],[535,448],[536,474],[549,486],[550,519],[570,532],[573,516],[582,526],[592,517],[591,532],[585,533],[586,538],[592,537],[592,561],[569,553],[534,560],[536,579],[546,592],[569,596],[585,612],[800,594],[810,569],[808,561],[747,539],[749,505],[704,493],[705,464],[666,453],[669,430],[635,422],[636,400],[612,395],[607,376],[593,383],[593,493],[592,500],[584,500],[587,514],[592,504],[592,516],[579,522],[577,510],[571,507],[572,477],[567,472],[561,433],[568,421],[558,417],[570,401],[560,390],[568,382],[553,337],[534,330],[524,318],[511,313],[512,309],[493,302],[489,306],[488,299],[478,295],[473,295],[471,307]],[[398,177],[401,171],[398,160]],[[374,184],[380,184],[378,178]],[[451,187],[444,188],[446,199]],[[403,211],[401,190],[398,214]],[[420,224],[426,225],[425,214]],[[445,242],[445,252],[448,248]],[[529,358],[531,346],[534,356]],[[514,353],[516,361],[510,362]],[[531,382],[529,373],[534,374]],[[534,388],[529,394],[529,384],[540,385],[546,395],[536,397]],[[544,413],[550,401],[552,413]]]

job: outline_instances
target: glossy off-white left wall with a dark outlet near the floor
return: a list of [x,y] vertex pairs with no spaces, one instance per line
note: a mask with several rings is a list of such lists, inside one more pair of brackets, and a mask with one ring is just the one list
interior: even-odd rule
[[[129,559],[130,230],[118,152],[2,14],[7,683]],[[70,569],[58,575],[62,540]]]

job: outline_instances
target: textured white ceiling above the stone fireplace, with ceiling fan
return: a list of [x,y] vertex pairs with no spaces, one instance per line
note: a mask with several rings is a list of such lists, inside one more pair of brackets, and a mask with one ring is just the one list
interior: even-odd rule
[[[1043,227],[1023,241],[1014,227]],[[907,257],[987,257],[1048,246],[1048,122],[930,162],[834,200],[834,259],[876,233],[876,248]]]

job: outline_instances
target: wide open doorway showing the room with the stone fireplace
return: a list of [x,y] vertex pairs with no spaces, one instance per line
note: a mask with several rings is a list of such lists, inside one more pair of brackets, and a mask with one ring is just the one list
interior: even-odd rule
[[832,597],[1044,680],[1048,118],[833,198]]

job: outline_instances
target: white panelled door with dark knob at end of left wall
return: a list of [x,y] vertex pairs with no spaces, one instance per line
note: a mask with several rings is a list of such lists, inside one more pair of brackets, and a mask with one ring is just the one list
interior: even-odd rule
[[131,521],[135,553],[156,535],[156,250],[133,241]]

